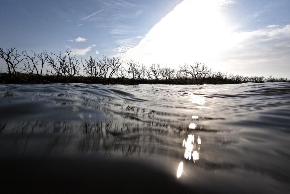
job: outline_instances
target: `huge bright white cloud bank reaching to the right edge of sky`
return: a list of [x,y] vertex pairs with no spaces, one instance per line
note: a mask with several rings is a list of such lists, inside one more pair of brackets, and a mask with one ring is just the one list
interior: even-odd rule
[[227,24],[223,10],[233,3],[184,0],[153,26],[138,45],[124,44],[113,52],[123,60],[133,59],[146,65],[160,63],[178,68],[185,62],[204,62],[214,70],[246,75],[263,71],[265,74],[276,64],[281,66],[276,71],[285,75],[286,69],[290,70],[290,25],[237,32]]

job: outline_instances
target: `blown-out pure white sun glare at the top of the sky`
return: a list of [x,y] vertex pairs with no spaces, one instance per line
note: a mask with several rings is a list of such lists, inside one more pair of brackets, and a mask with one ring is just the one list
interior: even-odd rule
[[126,55],[142,62],[156,63],[162,59],[175,64],[219,57],[219,51],[233,44],[222,12],[229,2],[184,0]]

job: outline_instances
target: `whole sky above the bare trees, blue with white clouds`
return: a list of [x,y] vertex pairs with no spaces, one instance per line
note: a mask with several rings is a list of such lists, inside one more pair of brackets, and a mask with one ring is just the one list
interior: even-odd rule
[[2,0],[0,17],[0,46],[19,51],[290,78],[289,0]]

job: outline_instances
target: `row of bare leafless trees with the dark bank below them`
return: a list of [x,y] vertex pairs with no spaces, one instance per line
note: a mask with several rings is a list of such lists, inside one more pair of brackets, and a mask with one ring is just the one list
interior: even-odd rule
[[133,60],[103,55],[78,59],[68,49],[54,54],[32,51],[21,54],[15,48],[0,47],[7,69],[0,72],[1,83],[102,83],[102,84],[234,84],[245,82],[288,82],[287,78],[228,75],[214,72],[205,64],[180,65],[178,69],[152,64],[146,68]]

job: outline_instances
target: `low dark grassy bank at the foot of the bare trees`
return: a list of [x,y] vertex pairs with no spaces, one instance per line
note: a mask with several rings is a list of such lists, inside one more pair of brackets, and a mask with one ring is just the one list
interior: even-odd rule
[[17,73],[11,79],[7,73],[0,73],[0,84],[59,84],[59,83],[82,83],[82,84],[174,84],[174,85],[202,85],[202,84],[242,84],[242,83],[266,83],[266,82],[289,82],[287,78],[265,78],[264,80],[255,80],[255,77],[243,77],[243,80],[234,80],[233,78],[202,78],[202,79],[132,79],[132,78],[110,78],[73,76],[65,77],[60,75],[30,75]]

